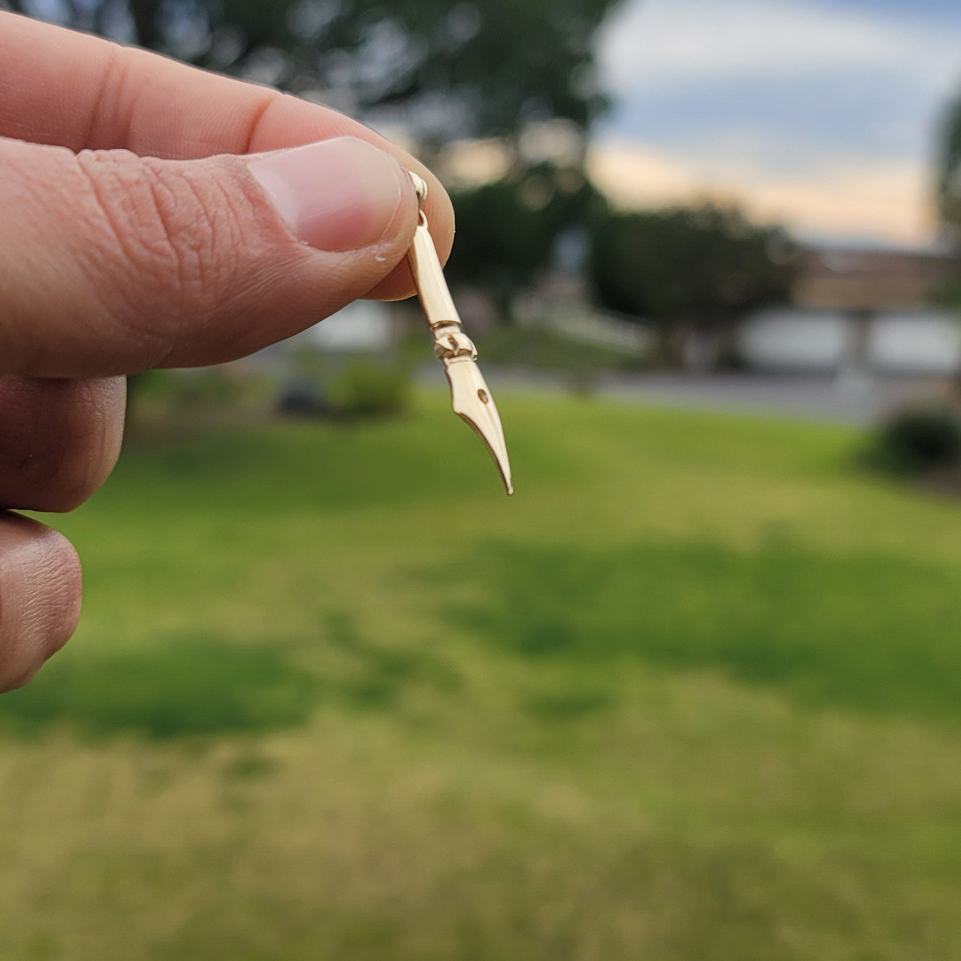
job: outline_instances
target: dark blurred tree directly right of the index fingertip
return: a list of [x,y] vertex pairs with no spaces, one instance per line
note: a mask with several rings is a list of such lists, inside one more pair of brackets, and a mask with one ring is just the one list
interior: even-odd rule
[[504,179],[452,194],[457,242],[447,265],[452,283],[485,287],[502,318],[510,300],[554,256],[557,237],[583,223],[594,188],[571,167],[540,163]]

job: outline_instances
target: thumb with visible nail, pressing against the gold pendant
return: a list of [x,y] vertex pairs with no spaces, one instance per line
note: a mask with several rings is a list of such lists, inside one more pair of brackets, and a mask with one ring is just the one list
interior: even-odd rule
[[0,138],[0,373],[217,363],[321,320],[407,252],[417,202],[352,137],[259,157]]

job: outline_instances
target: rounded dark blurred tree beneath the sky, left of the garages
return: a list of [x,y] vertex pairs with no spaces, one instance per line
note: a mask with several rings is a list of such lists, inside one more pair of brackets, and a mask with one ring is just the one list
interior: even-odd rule
[[701,343],[724,361],[737,320],[789,299],[794,254],[784,231],[737,209],[602,209],[590,271],[603,306],[658,323],[669,355],[688,362]]

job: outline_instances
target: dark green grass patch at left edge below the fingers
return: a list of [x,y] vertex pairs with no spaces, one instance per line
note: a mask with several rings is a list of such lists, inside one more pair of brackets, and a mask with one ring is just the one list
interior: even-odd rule
[[68,725],[153,739],[261,732],[304,724],[317,693],[315,678],[275,648],[179,638],[63,653],[0,697],[0,724],[20,733]]

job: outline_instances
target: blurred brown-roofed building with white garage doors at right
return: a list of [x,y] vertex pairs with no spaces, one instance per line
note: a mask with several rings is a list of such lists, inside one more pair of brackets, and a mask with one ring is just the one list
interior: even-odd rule
[[739,354],[759,370],[949,376],[961,369],[961,318],[932,304],[957,269],[920,251],[810,248],[795,306],[749,318]]

